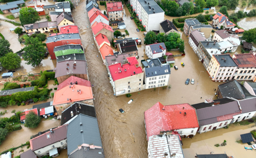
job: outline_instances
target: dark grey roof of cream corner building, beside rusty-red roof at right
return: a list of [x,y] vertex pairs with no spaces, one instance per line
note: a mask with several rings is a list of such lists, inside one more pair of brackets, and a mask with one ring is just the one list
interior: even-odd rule
[[236,62],[232,59],[230,54],[214,55],[218,60],[220,67],[236,67]]

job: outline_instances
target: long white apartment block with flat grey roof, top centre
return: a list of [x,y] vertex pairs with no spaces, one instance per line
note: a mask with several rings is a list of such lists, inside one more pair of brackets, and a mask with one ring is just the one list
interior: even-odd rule
[[146,31],[160,30],[164,11],[154,0],[130,0],[130,4]]

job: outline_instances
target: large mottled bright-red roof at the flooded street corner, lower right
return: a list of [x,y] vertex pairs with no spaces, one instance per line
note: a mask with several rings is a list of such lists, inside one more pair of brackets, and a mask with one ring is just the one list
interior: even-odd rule
[[144,115],[147,138],[159,135],[160,131],[199,127],[195,108],[189,104],[163,106],[157,102]]

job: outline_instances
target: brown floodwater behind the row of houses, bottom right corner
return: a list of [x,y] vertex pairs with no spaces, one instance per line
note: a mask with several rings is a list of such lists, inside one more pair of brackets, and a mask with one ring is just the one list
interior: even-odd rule
[[[246,126],[236,126],[231,124],[228,129],[218,129],[211,132],[195,135],[192,139],[182,139],[183,152],[185,158],[195,158],[197,154],[223,154],[234,158],[254,158],[256,150],[245,150],[245,147],[250,147],[248,144],[239,144],[236,141],[241,139],[241,134],[250,133],[255,130],[254,124]],[[221,144],[227,141],[227,145],[223,147],[215,147],[215,144]]]

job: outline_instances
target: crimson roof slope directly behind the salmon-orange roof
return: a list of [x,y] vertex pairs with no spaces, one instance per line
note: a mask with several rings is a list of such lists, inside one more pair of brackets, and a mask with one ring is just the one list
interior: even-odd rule
[[61,84],[58,85],[57,90],[61,90],[62,88],[70,85],[71,82],[73,84],[76,84],[76,82],[77,82],[78,85],[83,85],[83,86],[87,86],[87,87],[91,86],[90,81],[87,81],[86,79],[81,79],[81,78],[76,77],[76,76],[70,76],[65,81],[61,82]]

